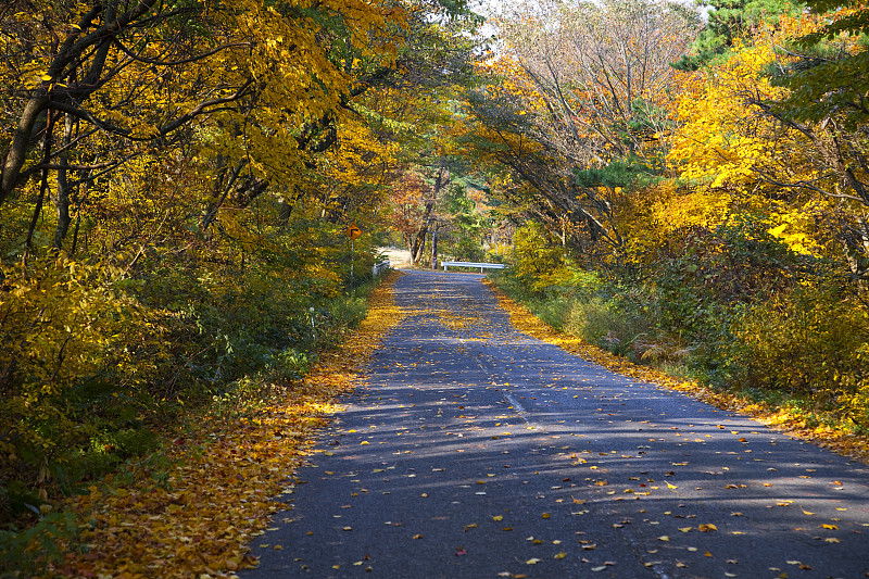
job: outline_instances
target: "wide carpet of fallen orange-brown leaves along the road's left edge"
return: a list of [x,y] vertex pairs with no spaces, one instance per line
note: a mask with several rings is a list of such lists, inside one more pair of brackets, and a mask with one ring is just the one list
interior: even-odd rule
[[168,470],[138,468],[129,482],[116,478],[70,501],[81,523],[79,546],[45,575],[227,577],[255,565],[247,545],[281,507],[274,498],[305,461],[315,429],[339,408],[336,397],[358,383],[360,368],[402,318],[393,281],[375,290],[360,328],[302,383],[279,387],[253,413],[202,416],[166,451]]

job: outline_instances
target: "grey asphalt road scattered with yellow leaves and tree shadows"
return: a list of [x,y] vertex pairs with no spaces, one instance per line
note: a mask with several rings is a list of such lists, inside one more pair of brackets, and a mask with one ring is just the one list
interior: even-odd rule
[[867,467],[518,333],[480,280],[399,280],[242,578],[869,577]]

